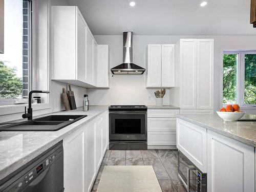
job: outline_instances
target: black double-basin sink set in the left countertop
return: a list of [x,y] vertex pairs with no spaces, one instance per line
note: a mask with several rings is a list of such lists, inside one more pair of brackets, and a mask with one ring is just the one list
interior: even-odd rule
[[0,127],[0,131],[58,131],[87,115],[49,115],[30,121],[8,124]]

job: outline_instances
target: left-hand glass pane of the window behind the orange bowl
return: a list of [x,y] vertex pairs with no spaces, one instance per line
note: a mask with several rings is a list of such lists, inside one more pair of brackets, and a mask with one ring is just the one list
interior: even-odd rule
[[223,103],[237,103],[237,54],[223,55]]

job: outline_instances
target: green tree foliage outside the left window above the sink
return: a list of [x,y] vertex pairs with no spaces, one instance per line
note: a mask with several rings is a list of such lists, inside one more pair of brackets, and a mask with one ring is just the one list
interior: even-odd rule
[[22,78],[15,71],[0,61],[0,98],[17,98],[22,94]]

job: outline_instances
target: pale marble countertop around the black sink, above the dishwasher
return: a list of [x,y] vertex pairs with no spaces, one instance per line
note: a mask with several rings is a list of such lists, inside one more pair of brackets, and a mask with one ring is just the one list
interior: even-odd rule
[[[88,115],[58,131],[0,132],[0,180],[108,109],[109,106],[90,106],[89,111],[82,111],[78,108],[72,111],[51,113],[54,115]],[[50,114],[37,117],[47,115]]]

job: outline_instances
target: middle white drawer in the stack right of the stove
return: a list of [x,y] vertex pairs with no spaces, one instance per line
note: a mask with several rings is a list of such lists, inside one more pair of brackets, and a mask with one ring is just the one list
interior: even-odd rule
[[176,117],[147,118],[147,131],[174,131],[176,132]]

